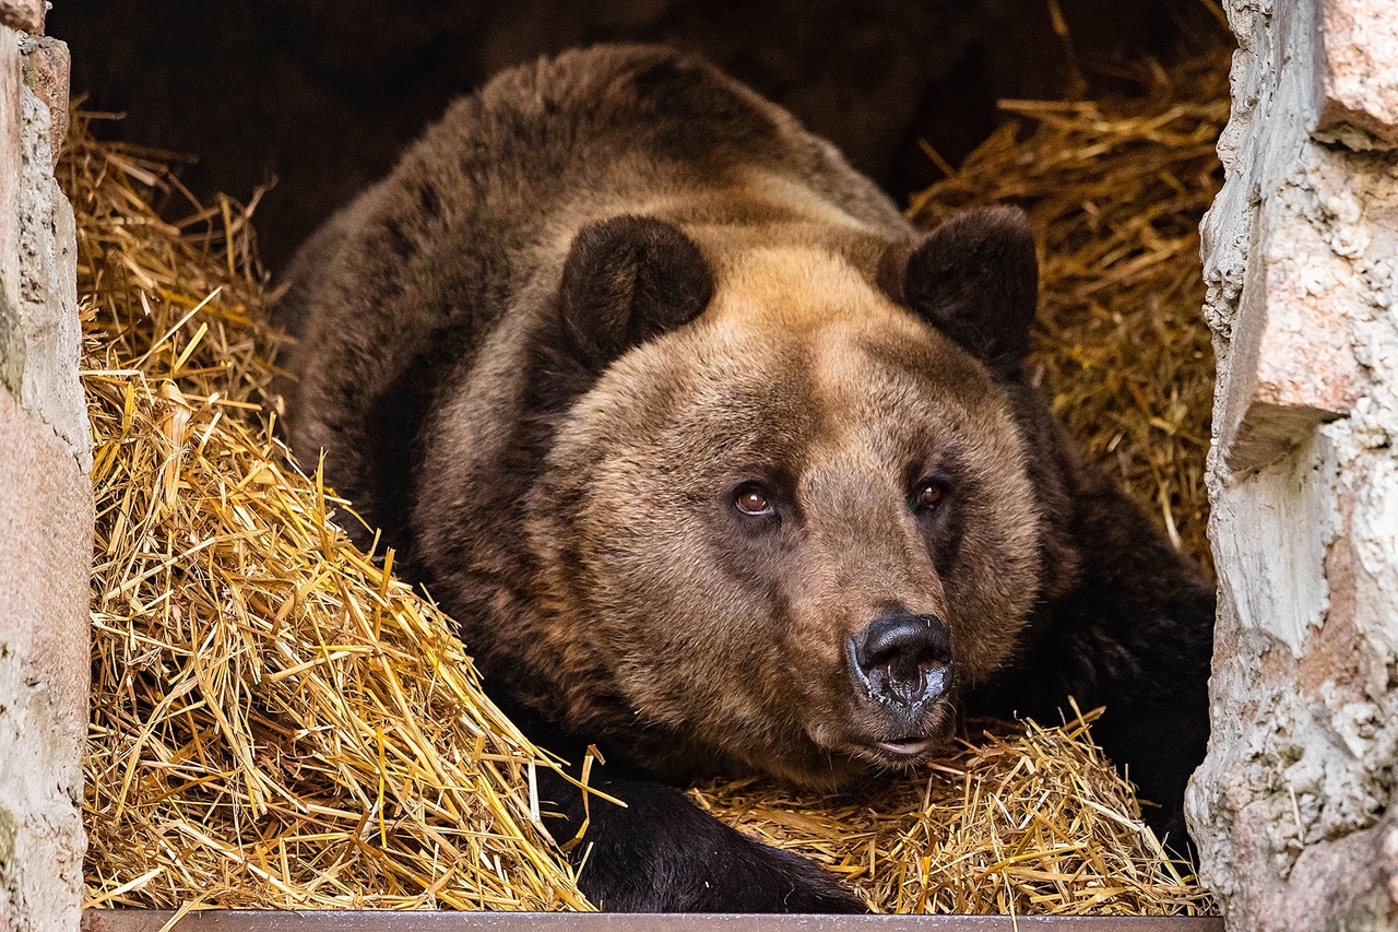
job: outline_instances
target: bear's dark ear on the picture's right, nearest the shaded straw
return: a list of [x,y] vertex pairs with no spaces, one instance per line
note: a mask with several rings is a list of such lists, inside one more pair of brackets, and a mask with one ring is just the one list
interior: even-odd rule
[[1019,378],[1039,305],[1039,260],[1025,211],[952,217],[907,259],[903,299],[1000,379]]

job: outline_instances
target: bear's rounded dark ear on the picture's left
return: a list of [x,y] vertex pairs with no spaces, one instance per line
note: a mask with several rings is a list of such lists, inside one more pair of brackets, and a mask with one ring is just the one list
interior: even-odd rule
[[699,316],[713,273],[678,227],[622,216],[583,227],[563,263],[562,353],[593,378],[646,340]]

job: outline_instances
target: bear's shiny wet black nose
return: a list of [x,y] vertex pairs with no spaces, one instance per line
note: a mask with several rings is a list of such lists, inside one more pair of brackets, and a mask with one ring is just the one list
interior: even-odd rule
[[952,642],[934,614],[885,614],[850,638],[851,672],[871,698],[921,705],[952,686]]

